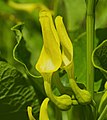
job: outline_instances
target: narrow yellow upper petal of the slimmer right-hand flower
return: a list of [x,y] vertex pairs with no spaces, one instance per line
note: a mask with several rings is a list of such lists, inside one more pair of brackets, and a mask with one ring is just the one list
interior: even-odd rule
[[67,66],[71,64],[73,61],[73,45],[67,34],[61,16],[56,17],[55,24],[62,45],[62,57],[63,57],[64,66]]

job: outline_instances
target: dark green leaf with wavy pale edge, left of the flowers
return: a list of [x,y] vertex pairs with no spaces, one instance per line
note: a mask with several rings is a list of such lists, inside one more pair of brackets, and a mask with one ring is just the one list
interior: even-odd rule
[[[15,32],[16,39],[17,39],[17,43],[16,43],[16,45],[13,49],[13,57],[17,62],[19,62],[20,64],[22,64],[25,67],[27,72],[32,77],[39,78],[41,76],[36,76],[34,74],[34,72],[33,73],[30,72],[30,70],[32,68],[32,65],[31,65],[31,62],[30,62],[31,52],[26,47],[26,41],[24,40],[23,33],[22,33],[23,26],[24,26],[23,23],[19,23],[11,29]],[[35,73],[36,73],[36,70],[35,70]]]

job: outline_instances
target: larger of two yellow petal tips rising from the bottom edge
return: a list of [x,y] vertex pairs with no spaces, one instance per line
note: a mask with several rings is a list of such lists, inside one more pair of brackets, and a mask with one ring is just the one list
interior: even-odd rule
[[40,107],[39,120],[49,120],[47,112],[48,102],[49,98],[45,98],[45,100],[42,102],[42,105]]

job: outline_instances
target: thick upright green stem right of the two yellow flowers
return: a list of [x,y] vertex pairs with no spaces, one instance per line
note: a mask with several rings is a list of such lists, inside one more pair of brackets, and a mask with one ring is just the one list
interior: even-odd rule
[[87,0],[87,90],[93,98],[94,91],[94,68],[91,61],[95,29],[95,0]]

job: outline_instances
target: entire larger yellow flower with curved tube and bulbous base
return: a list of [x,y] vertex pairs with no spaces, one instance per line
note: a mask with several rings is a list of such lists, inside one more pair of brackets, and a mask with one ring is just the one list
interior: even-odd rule
[[36,64],[36,69],[44,78],[44,87],[47,96],[57,107],[66,110],[71,106],[71,97],[68,95],[55,96],[51,90],[52,75],[62,64],[60,40],[49,11],[41,11],[39,20],[42,27],[44,45]]

